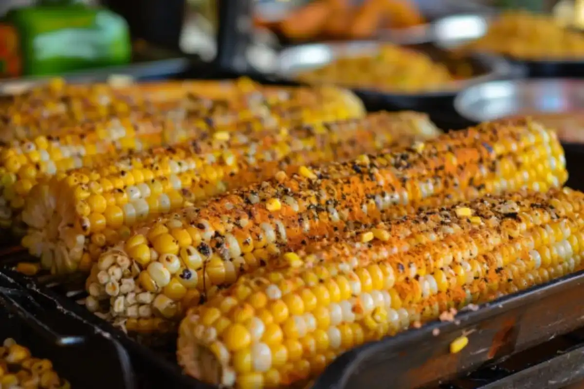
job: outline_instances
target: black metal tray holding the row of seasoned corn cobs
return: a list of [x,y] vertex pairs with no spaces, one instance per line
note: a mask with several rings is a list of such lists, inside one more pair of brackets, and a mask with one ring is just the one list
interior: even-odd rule
[[[20,255],[13,254],[10,260],[6,258],[5,261],[22,259]],[[64,285],[56,282],[39,285],[32,278],[8,268],[0,271],[0,279],[7,279],[29,290],[34,301],[42,296],[42,306],[59,307],[60,313],[82,323],[88,334],[106,334],[106,337],[119,342],[130,356],[134,371],[140,372],[137,374],[141,379],[138,387],[212,388],[180,372],[173,360],[173,337],[162,348],[147,348],[76,303],[76,299],[84,296],[83,292],[66,292]],[[367,386],[387,389],[388,382],[392,383],[392,388],[436,385],[477,369],[486,362],[582,327],[584,304],[580,303],[580,297],[583,294],[584,272],[578,272],[503,297],[480,306],[476,311],[463,310],[454,322],[429,323],[418,330],[409,330],[346,352],[311,387],[351,389]],[[15,309],[25,311],[26,320],[34,316],[25,304],[19,304]],[[56,320],[47,316],[39,320],[52,321],[55,327],[61,325],[60,318]],[[462,335],[470,340],[468,346],[460,353],[451,354],[450,343]],[[98,351],[93,353],[98,359],[105,358],[98,355]]]

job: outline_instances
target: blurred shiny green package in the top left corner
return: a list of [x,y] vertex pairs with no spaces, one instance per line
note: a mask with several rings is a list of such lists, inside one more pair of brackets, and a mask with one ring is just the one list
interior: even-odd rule
[[[11,68],[6,64],[11,64],[16,52],[20,75],[34,76],[122,65],[131,58],[126,20],[106,9],[45,2],[11,10],[2,24],[0,60],[4,59],[5,65],[0,65],[0,72],[3,67]],[[6,40],[3,28],[12,30],[15,37]],[[3,54],[11,58],[2,58]]]

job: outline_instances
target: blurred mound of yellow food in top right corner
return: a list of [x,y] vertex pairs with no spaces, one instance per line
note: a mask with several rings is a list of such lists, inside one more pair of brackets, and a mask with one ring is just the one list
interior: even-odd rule
[[582,59],[584,36],[560,26],[551,16],[506,12],[493,20],[484,37],[465,45],[464,50],[516,59]]

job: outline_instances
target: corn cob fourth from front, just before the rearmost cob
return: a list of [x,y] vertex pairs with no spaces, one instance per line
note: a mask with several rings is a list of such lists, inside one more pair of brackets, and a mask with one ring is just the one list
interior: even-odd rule
[[[293,104],[308,104],[311,102],[308,97],[312,96],[314,100],[315,96],[322,94],[302,89],[298,89],[296,93],[297,96],[290,100]],[[239,134],[239,138],[242,138],[241,135],[249,138],[250,131],[257,131],[252,135],[255,139],[261,139],[266,131],[276,131],[281,125],[290,124],[296,120],[310,119],[317,123],[329,117],[346,118],[361,115],[361,108],[356,106],[354,101],[348,101],[349,97],[345,92],[334,90],[324,92],[324,94],[326,96],[321,96],[322,99],[319,101],[312,101],[314,103],[314,108],[310,108],[312,111],[308,113],[303,111],[298,118],[287,116],[289,110],[294,111],[294,105],[270,106],[270,110],[264,113],[262,110],[251,107],[239,114],[231,114],[230,111],[213,112],[213,101],[187,99],[192,105],[170,113],[156,111],[133,114],[131,118],[121,120],[116,118],[111,121],[62,129],[57,134],[37,136],[30,141],[13,141],[12,146],[2,150],[0,156],[0,202],[2,203],[0,204],[0,226],[12,226],[13,230],[22,236],[20,210],[25,203],[26,195],[36,183],[43,182],[55,173],[82,166],[104,166],[108,158],[116,157],[120,153],[124,155],[128,151],[148,149],[152,146],[176,145],[196,137],[229,136],[223,132],[234,131],[234,129],[239,134],[242,128],[245,129],[245,134]],[[287,101],[285,96],[280,96],[279,99],[276,103]],[[225,104],[228,103],[229,101],[225,102]],[[302,105],[298,107],[302,108]],[[203,118],[199,115],[211,116]],[[207,135],[206,132],[209,134]],[[94,155],[96,155],[95,158],[93,158]],[[96,159],[94,162],[97,163],[92,163],[93,159]]]

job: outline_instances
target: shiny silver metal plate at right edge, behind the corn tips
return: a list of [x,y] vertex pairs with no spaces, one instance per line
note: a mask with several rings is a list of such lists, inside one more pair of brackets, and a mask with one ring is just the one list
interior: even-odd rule
[[584,110],[584,80],[529,79],[471,86],[454,99],[454,108],[471,121],[511,115]]

